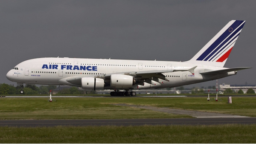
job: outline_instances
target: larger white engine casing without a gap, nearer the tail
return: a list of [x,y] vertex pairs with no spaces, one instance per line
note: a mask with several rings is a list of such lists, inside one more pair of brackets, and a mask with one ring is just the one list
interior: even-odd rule
[[133,76],[124,74],[111,74],[111,87],[113,88],[131,88],[135,85],[135,79]]

